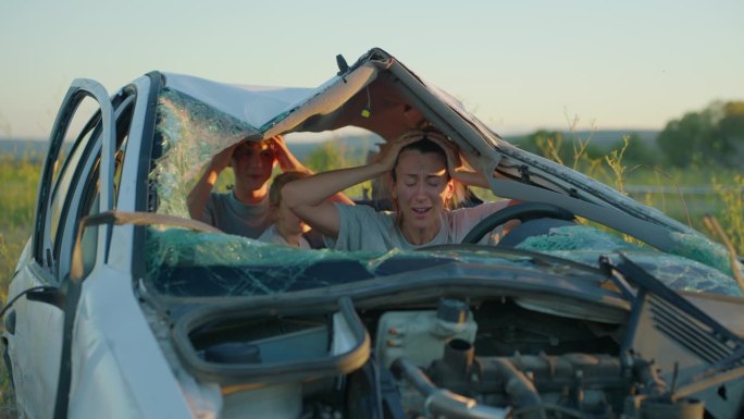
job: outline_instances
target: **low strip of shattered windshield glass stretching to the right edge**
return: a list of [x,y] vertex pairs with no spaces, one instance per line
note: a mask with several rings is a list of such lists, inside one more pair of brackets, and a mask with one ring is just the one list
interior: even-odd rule
[[[591,242],[596,247],[591,250],[561,249],[558,242],[562,238],[544,235],[521,248],[541,248],[541,251],[586,266],[597,266],[602,255],[615,260],[619,258],[613,252],[619,243],[606,233],[584,226],[561,227],[561,235],[579,243]],[[603,236],[605,241],[600,239]],[[228,234],[154,227],[148,230],[147,246],[148,278],[159,293],[172,296],[270,295],[437,269],[446,275],[448,273],[442,267],[450,263],[519,268],[568,274],[576,280],[592,276],[571,266],[546,268],[531,256],[499,255],[487,248],[483,251],[470,248],[463,251],[394,249],[384,254],[302,250]],[[549,246],[553,249],[548,249]],[[674,289],[741,295],[731,278],[705,264],[629,244],[620,249]],[[596,275],[593,281],[599,283]]]

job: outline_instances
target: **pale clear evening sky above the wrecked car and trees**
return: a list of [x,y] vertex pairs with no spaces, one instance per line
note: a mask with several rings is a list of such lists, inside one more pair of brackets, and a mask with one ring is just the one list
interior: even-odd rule
[[503,135],[662,130],[744,100],[742,0],[2,0],[0,137],[47,138],[74,78],[315,87],[380,47]]

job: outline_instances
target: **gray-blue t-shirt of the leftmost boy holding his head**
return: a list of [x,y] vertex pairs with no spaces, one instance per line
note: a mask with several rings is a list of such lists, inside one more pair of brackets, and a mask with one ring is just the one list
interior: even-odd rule
[[240,202],[235,192],[211,193],[204,207],[207,223],[227,234],[257,238],[271,225],[269,196],[256,205]]

